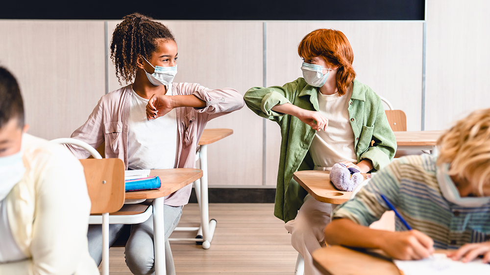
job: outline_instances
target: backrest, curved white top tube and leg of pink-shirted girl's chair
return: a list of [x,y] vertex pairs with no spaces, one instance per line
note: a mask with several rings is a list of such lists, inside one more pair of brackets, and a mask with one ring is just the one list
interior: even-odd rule
[[102,275],[109,275],[109,213],[119,211],[124,204],[124,162],[117,158],[102,159],[85,142],[61,138],[51,142],[73,144],[89,151],[94,158],[81,159],[92,208],[90,214],[102,214]]

